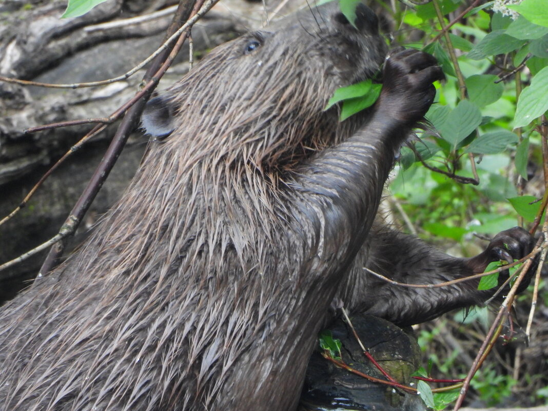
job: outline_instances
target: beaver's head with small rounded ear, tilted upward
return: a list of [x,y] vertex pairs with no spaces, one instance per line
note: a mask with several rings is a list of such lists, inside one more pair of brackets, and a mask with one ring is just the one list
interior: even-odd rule
[[362,3],[350,24],[338,2],[302,10],[210,52],[143,116],[147,132],[188,161],[293,167],[344,139],[362,116],[339,124],[323,111],[334,91],[373,76],[386,45]]

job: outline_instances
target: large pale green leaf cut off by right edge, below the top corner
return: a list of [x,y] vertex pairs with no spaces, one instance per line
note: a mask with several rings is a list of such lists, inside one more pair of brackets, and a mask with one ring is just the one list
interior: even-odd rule
[[523,89],[517,102],[513,127],[523,127],[548,110],[548,67],[544,67]]

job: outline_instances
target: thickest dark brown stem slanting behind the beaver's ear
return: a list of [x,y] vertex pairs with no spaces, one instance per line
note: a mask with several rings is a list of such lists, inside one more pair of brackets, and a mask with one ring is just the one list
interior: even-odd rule
[[[203,4],[204,2],[203,0],[201,2],[197,1],[194,7],[191,8],[192,0],[181,0],[181,2],[179,3],[179,8],[174,15],[172,24],[168,29],[168,33],[175,31],[176,27],[179,26],[181,21],[186,21],[191,15],[191,10],[196,13],[196,17],[196,15],[198,15],[198,7],[200,7],[201,5],[199,3]],[[215,2],[209,1],[208,3],[213,5]],[[196,21],[196,19],[194,21]],[[185,25],[188,26],[189,22],[190,20],[187,21]],[[179,32],[179,30],[177,30],[176,32]],[[186,33],[187,32],[181,32],[181,37],[179,38],[178,42],[173,46],[171,53],[169,53],[169,50],[165,50],[164,53],[162,53],[158,56],[157,59],[155,59],[151,67],[149,67],[149,69],[146,71],[144,81],[156,83],[159,81],[159,78],[162,77],[163,73],[167,70],[167,68],[173,61],[174,55],[176,55],[176,53],[181,48],[182,43],[184,43]],[[158,66],[160,67],[158,68]],[[152,89],[149,90],[149,95],[151,92]],[[68,227],[68,229],[71,230],[71,233],[76,230],[79,221],[81,221],[81,219],[83,218],[85,212],[88,210],[90,204],[92,203],[105,179],[109,175],[110,170],[116,163],[119,153],[121,152],[125,141],[127,141],[128,139],[129,133],[133,130],[135,122],[138,121],[141,116],[142,109],[144,109],[145,102],[149,95],[144,95],[143,99],[136,101],[135,105],[130,107],[130,109],[122,119],[122,123],[118,127],[116,135],[114,136],[111,145],[109,146],[109,149],[107,149],[105,156],[101,159],[99,167],[95,170],[95,173],[90,179],[87,187],[85,187],[84,192],[78,199],[78,202],[72,209],[70,215],[65,222],[65,225]],[[56,260],[62,254],[63,249],[64,244],[62,242],[57,243],[55,247],[52,247],[52,249],[50,249],[49,254],[46,257],[44,264],[42,264],[38,275],[45,275],[45,273],[52,270],[56,263]]]

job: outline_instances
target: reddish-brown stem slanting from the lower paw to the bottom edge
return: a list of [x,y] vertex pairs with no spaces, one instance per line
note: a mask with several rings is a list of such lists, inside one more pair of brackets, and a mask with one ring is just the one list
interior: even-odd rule
[[520,287],[520,284],[525,277],[527,271],[529,270],[531,264],[533,264],[533,260],[529,260],[523,265],[523,270],[521,271],[520,276],[516,278],[516,281],[513,283],[510,292],[503,301],[503,304],[501,304],[499,312],[497,313],[495,320],[493,321],[493,325],[489,329],[486,338],[483,340],[483,344],[477,353],[474,363],[472,364],[472,368],[466,375],[463,386],[460,389],[459,397],[456,399],[453,411],[458,411],[458,409],[463,404],[464,398],[466,397],[466,392],[470,387],[470,381],[476,374],[479,367],[482,366],[484,359],[487,357],[488,353],[491,351],[493,345],[495,344],[496,339],[500,335],[500,331],[503,325],[503,317],[507,317],[508,315],[510,315],[509,307],[512,305],[513,299],[517,293],[517,289],[518,287]]

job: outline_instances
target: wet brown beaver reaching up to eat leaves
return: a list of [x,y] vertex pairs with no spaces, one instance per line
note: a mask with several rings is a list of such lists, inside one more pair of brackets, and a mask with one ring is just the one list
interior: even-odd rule
[[[336,3],[221,45],[151,102],[153,142],[87,242],[0,313],[2,411],[293,410],[340,299],[399,324],[486,298],[407,289],[519,258],[525,232],[458,259],[375,218],[395,153],[432,104],[436,60],[384,63],[365,112],[324,111],[379,71],[374,13]],[[504,247],[507,245],[507,249]]]

